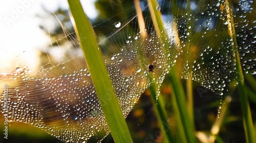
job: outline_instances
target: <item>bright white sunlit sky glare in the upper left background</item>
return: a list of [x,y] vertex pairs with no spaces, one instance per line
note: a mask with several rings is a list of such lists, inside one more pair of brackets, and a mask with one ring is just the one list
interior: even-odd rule
[[[84,10],[90,18],[97,16],[94,1],[83,1],[82,5],[87,6]],[[38,49],[44,49],[51,41],[49,35],[40,30],[41,20],[37,15],[45,13],[44,9],[54,12],[58,7],[68,9],[68,3],[59,0],[0,2],[0,72],[11,72],[15,69],[14,65],[26,64],[31,69],[38,66]],[[54,27],[51,26],[49,28]]]

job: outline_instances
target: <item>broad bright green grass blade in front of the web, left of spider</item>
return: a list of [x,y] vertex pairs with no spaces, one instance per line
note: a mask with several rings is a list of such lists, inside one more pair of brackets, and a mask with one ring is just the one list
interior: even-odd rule
[[[73,24],[78,40],[84,52],[88,69],[95,86],[106,122],[109,125],[115,142],[133,142],[129,129],[125,123],[123,113],[114,91],[109,74],[106,71],[100,50],[89,19],[84,14],[79,0],[68,0],[73,16]],[[104,83],[104,86],[102,86]],[[105,95],[108,94],[108,102]]]

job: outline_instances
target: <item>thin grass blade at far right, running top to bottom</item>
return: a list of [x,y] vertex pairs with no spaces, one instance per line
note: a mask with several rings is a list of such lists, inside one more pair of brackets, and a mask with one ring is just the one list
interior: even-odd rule
[[228,33],[230,38],[232,38],[233,43],[232,48],[234,51],[234,56],[236,56],[236,69],[238,72],[238,89],[239,89],[239,96],[240,96],[240,103],[242,107],[242,114],[243,114],[243,123],[244,123],[244,130],[245,130],[245,136],[247,142],[256,142],[255,140],[255,134],[253,129],[253,122],[251,117],[251,110],[249,106],[248,101],[248,95],[247,91],[245,90],[245,84],[244,84],[244,75],[243,70],[240,62],[240,55],[238,51],[238,43],[237,43],[237,37],[236,37],[236,30],[234,28],[234,21],[233,21],[233,11],[232,6],[229,4],[228,0],[225,0],[226,3],[226,13],[227,13],[227,19],[228,20]]

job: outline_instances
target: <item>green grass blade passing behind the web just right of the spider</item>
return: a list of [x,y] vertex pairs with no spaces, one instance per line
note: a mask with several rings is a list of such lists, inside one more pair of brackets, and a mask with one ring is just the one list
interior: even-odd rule
[[[162,17],[160,14],[160,11],[158,11],[156,8],[158,6],[157,2],[155,0],[147,0],[148,7],[150,9],[151,17],[153,20],[153,24],[155,27],[155,31],[157,36],[164,38],[167,38],[167,35],[165,33],[164,24],[162,21]],[[162,33],[161,33],[162,31]],[[167,43],[165,43],[165,48],[167,48]],[[179,77],[177,75],[176,68],[174,66],[174,71],[170,72],[171,77],[169,78],[169,81],[172,82],[172,89],[176,96],[176,102],[178,105],[178,109],[181,116],[181,121],[183,124],[183,128],[185,131],[185,136],[187,138],[187,142],[195,142],[195,125],[193,121],[191,121],[191,117],[188,114],[188,110],[186,107],[186,97],[184,90],[182,88],[181,81],[179,80]]]

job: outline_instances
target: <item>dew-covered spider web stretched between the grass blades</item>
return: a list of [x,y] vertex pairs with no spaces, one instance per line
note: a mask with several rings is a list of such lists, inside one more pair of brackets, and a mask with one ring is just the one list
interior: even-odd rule
[[[186,2],[159,1],[157,9],[168,35],[164,38],[155,34],[146,2],[141,5],[145,30],[139,29],[136,12],[113,21],[116,15],[94,26],[111,31],[106,36],[99,33],[97,39],[124,117],[151,83],[156,83],[160,92],[174,65],[180,68],[182,78],[198,81],[219,96],[228,93],[237,73],[225,2],[191,1],[188,13]],[[255,74],[256,20],[251,16],[255,5],[239,1],[232,6],[243,71]],[[112,26],[105,26],[109,22]],[[65,142],[87,142],[92,136],[99,136],[100,142],[110,133],[101,110],[104,103],[99,104],[75,33],[62,23],[60,27],[62,36],[41,50],[38,68],[25,64],[1,74],[1,83],[9,90],[8,110],[3,108],[4,96],[1,110],[8,113],[10,121],[31,124]],[[148,72],[147,65],[154,62],[154,72]],[[107,102],[108,93],[105,97]]]

